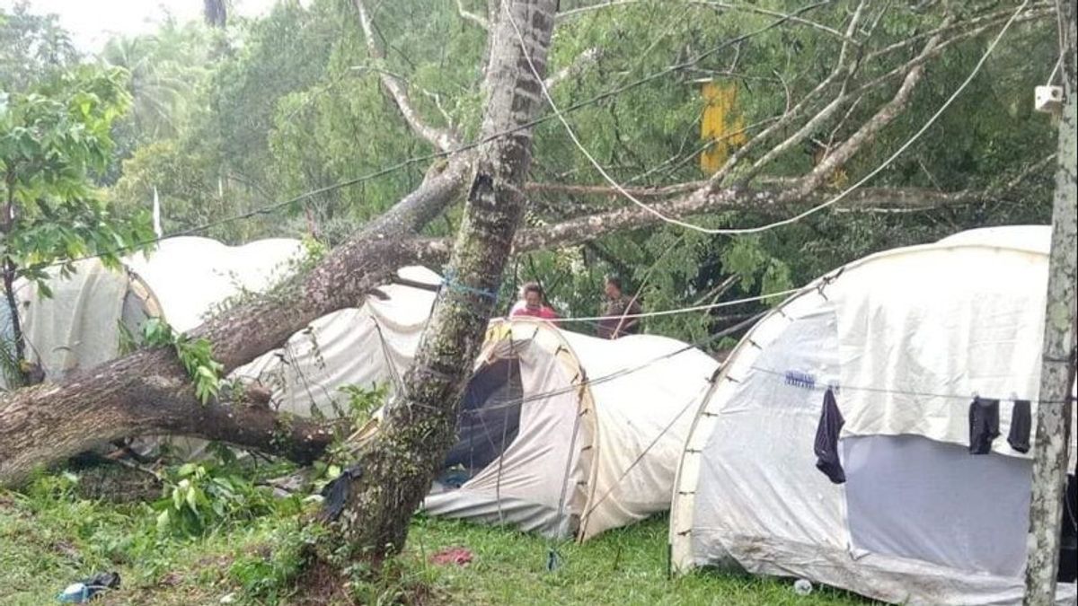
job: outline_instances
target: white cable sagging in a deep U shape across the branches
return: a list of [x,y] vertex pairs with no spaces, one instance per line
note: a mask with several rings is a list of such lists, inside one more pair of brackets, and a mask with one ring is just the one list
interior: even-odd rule
[[[650,212],[651,215],[658,217],[660,220],[662,220],[662,221],[664,221],[666,223],[669,223],[672,225],[677,225],[679,228],[685,228],[685,229],[688,229],[688,230],[692,230],[692,231],[700,232],[700,233],[703,233],[703,234],[708,234],[708,235],[745,235],[745,234],[757,234],[757,233],[770,231],[770,230],[773,230],[775,228],[779,228],[779,226],[783,226],[783,225],[789,225],[791,223],[800,221],[801,219],[804,219],[805,217],[808,217],[810,215],[814,215],[814,214],[816,214],[816,212],[818,212],[820,210],[824,210],[825,208],[828,208],[830,206],[833,206],[833,205],[838,204],[839,202],[841,202],[842,199],[844,199],[847,195],[849,195],[852,192],[854,192],[855,190],[857,190],[858,188],[860,188],[862,184],[865,184],[866,182],[868,182],[870,179],[872,179],[873,177],[875,177],[876,175],[879,175],[880,173],[882,173],[885,168],[887,168],[888,166],[890,166],[890,164],[895,160],[897,160],[898,156],[900,156],[901,154],[903,154],[910,147],[912,147],[913,143],[916,142],[921,138],[921,136],[924,135],[925,132],[928,130],[928,128],[930,128],[932,126],[932,124],[936,123],[936,121],[940,118],[940,115],[942,115],[943,112],[946,111],[946,109],[949,107],[951,107],[951,104],[954,102],[954,100],[958,97],[958,95],[960,95],[963,93],[963,91],[965,91],[966,87],[969,85],[969,83],[972,82],[973,78],[976,78],[977,74],[980,73],[981,68],[984,66],[984,63],[989,59],[989,57],[995,51],[996,46],[999,44],[999,41],[1003,39],[1004,35],[1007,33],[1007,30],[1010,29],[1011,24],[1014,23],[1014,19],[1017,19],[1018,16],[1019,16],[1019,14],[1021,14],[1022,11],[1025,10],[1025,8],[1026,8],[1026,5],[1028,5],[1028,3],[1029,3],[1029,0],[1025,0],[1018,8],[1018,10],[1014,11],[1014,13],[1011,15],[1011,17],[1007,20],[1007,23],[1004,24],[1004,27],[1003,27],[1003,29],[999,30],[999,33],[996,35],[996,38],[992,41],[991,44],[989,44],[989,47],[985,50],[984,54],[981,56],[981,59],[973,67],[972,71],[969,73],[969,75],[966,78],[966,80],[954,91],[954,93],[946,99],[946,101],[944,101],[943,105],[940,106],[940,108],[936,111],[936,113],[934,113],[931,115],[931,118],[929,118],[928,121],[925,122],[925,124],[916,133],[914,133],[914,135],[912,137],[910,137],[909,140],[907,140],[900,148],[898,148],[898,150],[896,150],[895,153],[893,153],[890,156],[887,157],[887,160],[885,160],[882,164],[880,164],[880,166],[877,166],[871,173],[869,173],[868,175],[866,175],[865,177],[862,177],[860,180],[858,180],[853,185],[851,185],[851,187],[846,188],[845,190],[843,190],[840,194],[835,195],[834,197],[832,197],[832,198],[830,198],[830,199],[828,199],[828,201],[826,201],[826,202],[824,202],[821,204],[818,204],[818,205],[816,205],[816,206],[814,206],[814,207],[805,210],[804,212],[801,212],[801,214],[796,215],[793,217],[790,217],[788,219],[783,219],[780,221],[775,221],[773,223],[768,223],[768,224],[759,225],[759,226],[756,226],[756,228],[737,228],[737,229],[704,228],[702,225],[696,225],[694,223],[689,223],[687,221],[681,221],[680,219],[677,219],[677,218],[664,215],[662,211],[660,211],[660,210],[658,210],[655,208],[652,208],[648,204],[645,204],[644,202],[640,202],[639,199],[637,199],[636,196],[634,196],[632,193],[630,193],[627,190],[625,190],[625,188],[623,188],[621,185],[621,183],[619,183],[613,177],[611,177],[606,171],[606,169],[603,168],[603,166],[598,163],[598,161],[595,160],[595,157],[592,155],[592,153],[590,151],[588,151],[588,148],[584,147],[584,144],[580,141],[580,139],[577,137],[576,132],[572,129],[572,126],[570,126],[569,122],[565,119],[564,112],[561,111],[558,109],[557,105],[554,102],[554,98],[551,96],[550,89],[547,87],[547,85],[543,82],[542,78],[539,77],[539,71],[536,69],[535,64],[531,60],[531,56],[528,53],[525,52],[525,58],[527,58],[528,67],[531,69],[531,72],[535,74],[536,79],[539,82],[539,86],[542,88],[543,96],[547,98],[547,101],[550,104],[551,109],[554,111],[554,116],[557,118],[558,121],[562,122],[562,125],[565,127],[565,130],[569,135],[569,138],[572,140],[572,143],[577,147],[577,149],[580,150],[580,152],[582,154],[584,154],[584,157],[588,159],[588,162],[592,164],[592,166],[595,168],[595,170],[597,170],[599,173],[599,175],[602,175],[603,178],[607,182],[609,182],[610,185],[614,190],[618,191],[618,193],[620,193],[622,196],[624,196],[626,199],[628,199],[630,202],[632,202],[636,206],[640,207],[641,209],[646,210],[647,212]],[[521,45],[523,47],[524,44],[525,44],[524,43],[524,36],[521,32],[521,29],[517,27],[516,20],[513,19],[512,14],[509,14],[508,12],[507,12],[507,14],[509,16],[509,22],[513,26],[513,29],[516,31],[516,37],[520,40],[520,43],[521,43]]]

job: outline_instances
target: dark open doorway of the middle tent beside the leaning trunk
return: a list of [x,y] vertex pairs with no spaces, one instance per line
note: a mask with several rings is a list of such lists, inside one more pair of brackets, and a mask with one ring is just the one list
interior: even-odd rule
[[442,482],[460,487],[506,452],[521,426],[521,363],[497,359],[472,376],[457,417],[457,443],[442,466]]

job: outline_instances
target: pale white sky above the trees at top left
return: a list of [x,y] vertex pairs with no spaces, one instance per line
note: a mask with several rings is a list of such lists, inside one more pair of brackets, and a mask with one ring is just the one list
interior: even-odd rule
[[[11,10],[18,0],[0,0]],[[258,16],[277,0],[233,0],[232,14]],[[171,14],[178,20],[201,19],[203,0],[29,0],[32,13],[55,13],[71,32],[75,47],[86,53],[99,51],[110,35],[149,33]]]

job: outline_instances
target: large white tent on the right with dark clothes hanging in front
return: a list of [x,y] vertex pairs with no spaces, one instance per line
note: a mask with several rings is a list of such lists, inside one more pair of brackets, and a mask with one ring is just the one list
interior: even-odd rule
[[773,309],[696,413],[672,564],[1021,603],[1049,240],[1000,228],[881,252]]

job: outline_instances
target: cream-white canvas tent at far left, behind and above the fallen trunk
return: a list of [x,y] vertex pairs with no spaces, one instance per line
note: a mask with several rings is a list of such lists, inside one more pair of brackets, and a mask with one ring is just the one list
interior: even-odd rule
[[149,254],[125,257],[120,270],[96,259],[75,263],[66,277],[53,270],[50,298],[20,280],[16,293],[27,355],[52,381],[99,364],[119,353],[121,327],[137,334],[142,320],[163,316],[178,331],[195,328],[230,299],[272,286],[302,251],[299,240],[286,238],[227,246],[177,237]]

